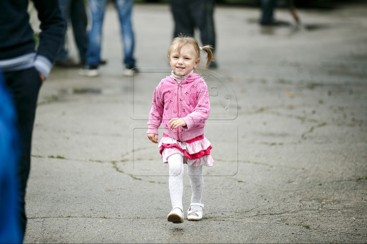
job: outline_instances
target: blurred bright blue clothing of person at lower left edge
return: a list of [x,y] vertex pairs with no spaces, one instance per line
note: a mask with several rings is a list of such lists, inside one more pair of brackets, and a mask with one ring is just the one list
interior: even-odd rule
[[21,243],[17,208],[19,188],[17,164],[20,144],[13,101],[0,72],[0,243]]

